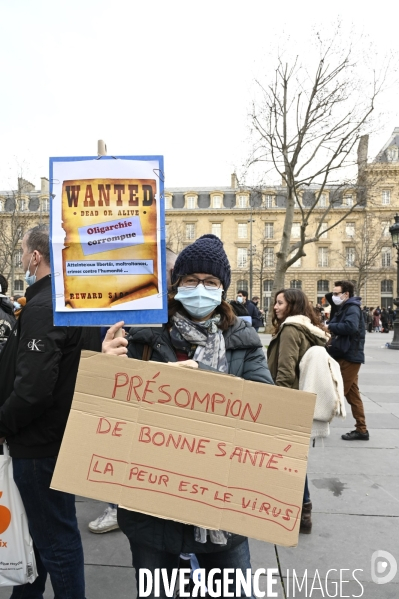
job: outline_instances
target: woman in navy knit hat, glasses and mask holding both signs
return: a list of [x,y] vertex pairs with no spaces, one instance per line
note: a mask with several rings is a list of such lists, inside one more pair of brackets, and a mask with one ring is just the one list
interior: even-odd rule
[[[238,320],[225,300],[231,270],[223,244],[203,235],[177,257],[169,294],[169,320],[162,328],[132,328],[128,339],[114,338],[123,323],[108,331],[103,352],[135,359],[213,370],[273,384],[262,343],[254,329]],[[177,375],[178,376],[178,375]],[[265,391],[267,393],[267,391]],[[172,568],[180,553],[194,553],[201,568],[251,567],[246,537],[118,508],[118,523],[128,537],[140,596],[139,570]],[[223,576],[219,575],[219,578]],[[153,597],[154,595],[150,595]],[[161,583],[161,597],[166,597]]]

